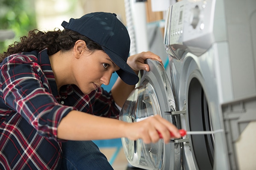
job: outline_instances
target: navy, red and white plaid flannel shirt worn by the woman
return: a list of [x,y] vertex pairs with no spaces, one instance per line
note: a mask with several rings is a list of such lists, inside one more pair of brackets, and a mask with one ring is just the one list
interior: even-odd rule
[[59,169],[57,127],[72,110],[118,119],[111,93],[102,88],[85,95],[66,85],[58,94],[47,49],[11,55],[0,71],[1,170]]

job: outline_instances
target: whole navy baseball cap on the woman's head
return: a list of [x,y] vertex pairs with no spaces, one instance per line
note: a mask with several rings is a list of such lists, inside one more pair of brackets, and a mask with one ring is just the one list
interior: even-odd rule
[[130,37],[127,29],[116,14],[107,12],[93,12],[81,18],[71,18],[69,23],[61,24],[82,34],[102,46],[102,49],[119,66],[118,76],[128,85],[135,85],[139,77],[126,63],[130,51]]

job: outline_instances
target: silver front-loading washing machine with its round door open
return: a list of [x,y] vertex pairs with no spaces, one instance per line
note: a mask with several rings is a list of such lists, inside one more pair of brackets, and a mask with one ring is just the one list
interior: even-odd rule
[[160,115],[186,135],[145,144],[122,138],[131,165],[146,170],[256,167],[256,0],[182,0],[166,12],[169,67],[146,60],[119,119]]

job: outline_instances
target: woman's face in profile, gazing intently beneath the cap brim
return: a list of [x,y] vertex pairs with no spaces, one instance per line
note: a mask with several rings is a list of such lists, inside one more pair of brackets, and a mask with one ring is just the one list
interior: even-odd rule
[[73,74],[76,85],[84,94],[89,94],[102,84],[108,85],[113,72],[119,70],[119,67],[104,51],[83,52],[73,65]]

